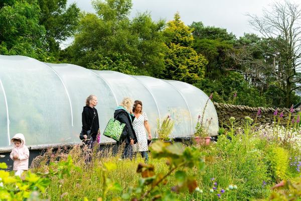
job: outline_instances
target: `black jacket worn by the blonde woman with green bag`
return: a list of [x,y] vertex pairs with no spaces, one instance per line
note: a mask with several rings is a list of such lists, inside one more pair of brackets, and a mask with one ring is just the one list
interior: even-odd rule
[[[121,143],[125,140],[125,143],[129,144],[130,139],[133,139],[134,144],[136,144],[137,137],[136,137],[133,125],[132,125],[132,121],[134,121],[135,117],[134,116],[129,117],[129,115],[127,114],[127,112],[125,110],[120,109],[120,110],[115,110],[114,118],[116,118],[116,120],[118,120],[119,122],[124,123],[126,125],[123,128],[119,143]],[[131,118],[131,119],[129,119],[129,118]]]

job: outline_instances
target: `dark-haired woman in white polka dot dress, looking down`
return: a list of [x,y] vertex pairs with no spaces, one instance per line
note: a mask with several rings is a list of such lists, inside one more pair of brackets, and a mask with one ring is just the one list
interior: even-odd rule
[[133,114],[135,115],[135,119],[132,125],[137,136],[137,144],[134,145],[134,151],[140,152],[147,163],[148,147],[145,129],[147,131],[149,140],[152,139],[152,134],[150,133],[147,116],[142,112],[142,102],[140,100],[135,100],[133,105]]

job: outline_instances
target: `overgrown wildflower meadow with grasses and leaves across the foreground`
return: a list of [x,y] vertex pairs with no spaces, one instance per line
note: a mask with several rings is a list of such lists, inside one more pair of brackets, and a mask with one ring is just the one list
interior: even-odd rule
[[286,127],[282,116],[276,110],[274,123],[260,126],[245,117],[243,127],[230,117],[209,145],[156,141],[148,164],[138,154],[119,160],[122,147],[96,146],[89,164],[80,146],[49,149],[22,179],[0,170],[0,199],[300,200],[300,114]]

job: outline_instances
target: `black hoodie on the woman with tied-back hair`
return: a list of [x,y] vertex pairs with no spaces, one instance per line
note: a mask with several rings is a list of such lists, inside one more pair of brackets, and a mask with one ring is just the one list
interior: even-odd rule
[[[94,117],[95,116],[95,117]],[[93,120],[94,117],[94,120]],[[93,124],[92,124],[93,120]],[[87,131],[90,130],[92,125],[92,137],[93,140],[96,139],[96,135],[99,129],[99,120],[97,110],[95,108],[91,108],[90,106],[85,106],[82,112],[82,124],[83,124],[83,134],[87,135]]]

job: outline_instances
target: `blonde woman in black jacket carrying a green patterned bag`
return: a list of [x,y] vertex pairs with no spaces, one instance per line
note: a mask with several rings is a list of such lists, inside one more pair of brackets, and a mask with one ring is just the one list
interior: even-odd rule
[[121,133],[119,144],[125,141],[125,147],[123,150],[122,158],[133,157],[133,144],[137,143],[137,137],[133,129],[132,122],[135,116],[132,114],[132,100],[128,97],[123,98],[120,106],[118,106],[114,112],[114,118],[121,123],[125,124]]

